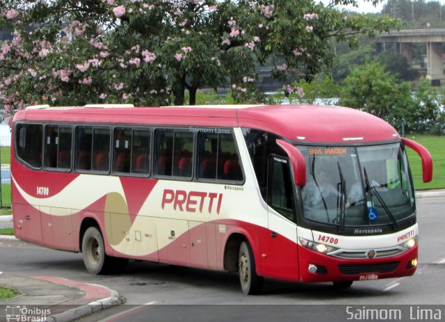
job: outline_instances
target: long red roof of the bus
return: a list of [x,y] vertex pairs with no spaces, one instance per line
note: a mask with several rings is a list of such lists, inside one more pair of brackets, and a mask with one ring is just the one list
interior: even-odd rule
[[397,131],[384,120],[339,106],[99,106],[25,109],[15,114],[14,121],[248,127],[270,131],[301,143],[370,143],[400,139]]

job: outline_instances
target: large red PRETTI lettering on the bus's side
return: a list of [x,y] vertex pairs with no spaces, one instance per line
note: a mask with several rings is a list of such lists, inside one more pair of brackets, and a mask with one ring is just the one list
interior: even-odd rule
[[175,211],[199,211],[200,213],[208,211],[209,214],[214,212],[220,214],[222,202],[223,193],[164,189],[161,208],[165,209],[167,205],[170,205]]

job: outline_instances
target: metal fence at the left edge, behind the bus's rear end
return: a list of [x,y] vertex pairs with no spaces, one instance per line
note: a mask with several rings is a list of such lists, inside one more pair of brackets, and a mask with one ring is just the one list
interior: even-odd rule
[[10,145],[10,136],[0,136],[0,207],[11,207]]

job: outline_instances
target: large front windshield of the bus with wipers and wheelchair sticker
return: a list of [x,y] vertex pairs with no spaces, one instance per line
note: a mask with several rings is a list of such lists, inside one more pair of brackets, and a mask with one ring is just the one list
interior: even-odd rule
[[307,220],[357,227],[394,225],[415,214],[407,157],[400,143],[360,147],[297,146],[305,156]]

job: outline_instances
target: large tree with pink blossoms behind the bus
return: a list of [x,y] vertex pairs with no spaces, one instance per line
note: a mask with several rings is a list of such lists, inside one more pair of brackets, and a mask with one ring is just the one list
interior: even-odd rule
[[[354,0],[333,0],[333,4]],[[330,39],[388,30],[390,17],[347,15],[312,0],[3,0],[0,104],[195,103],[225,85],[259,99],[255,67],[309,76],[330,63]],[[292,86],[286,92],[296,91]]]

